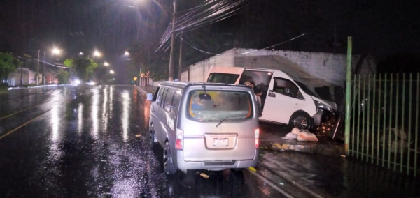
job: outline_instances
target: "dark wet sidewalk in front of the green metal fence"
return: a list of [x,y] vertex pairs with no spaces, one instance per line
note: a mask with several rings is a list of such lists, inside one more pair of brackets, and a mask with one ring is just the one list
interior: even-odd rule
[[260,165],[314,197],[420,197],[419,178],[360,160],[295,151],[262,152]]

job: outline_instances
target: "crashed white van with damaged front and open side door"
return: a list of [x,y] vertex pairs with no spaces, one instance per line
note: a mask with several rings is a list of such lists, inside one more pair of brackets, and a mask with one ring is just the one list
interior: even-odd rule
[[309,86],[281,70],[214,66],[206,79],[226,84],[254,82],[262,91],[260,121],[309,129],[337,109],[335,102],[321,99]]

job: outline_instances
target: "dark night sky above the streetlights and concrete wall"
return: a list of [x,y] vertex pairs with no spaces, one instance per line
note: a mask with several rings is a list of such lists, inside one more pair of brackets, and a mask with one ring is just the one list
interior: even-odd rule
[[[204,0],[177,2],[179,17]],[[236,15],[188,30],[183,38],[204,52],[221,53],[232,47],[262,49],[306,33],[274,50],[345,53],[346,38],[353,36],[355,53],[415,59],[420,52],[415,2],[248,0]],[[0,52],[34,56],[38,49],[57,46],[71,57],[96,49],[118,64],[134,40],[158,43],[171,17],[172,0],[3,0]],[[188,45],[184,49],[187,65],[212,56]],[[163,54],[169,56],[169,50]]]

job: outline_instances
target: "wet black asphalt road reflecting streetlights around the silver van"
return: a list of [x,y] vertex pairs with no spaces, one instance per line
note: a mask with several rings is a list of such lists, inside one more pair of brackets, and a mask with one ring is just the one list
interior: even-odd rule
[[148,105],[133,86],[0,94],[0,197],[285,197],[246,170],[197,176],[192,189],[166,176]]

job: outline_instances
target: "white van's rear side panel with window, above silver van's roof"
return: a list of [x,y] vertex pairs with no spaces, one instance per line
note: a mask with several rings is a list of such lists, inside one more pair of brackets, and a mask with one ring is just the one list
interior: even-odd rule
[[207,82],[239,84],[245,68],[213,66],[207,73]]

